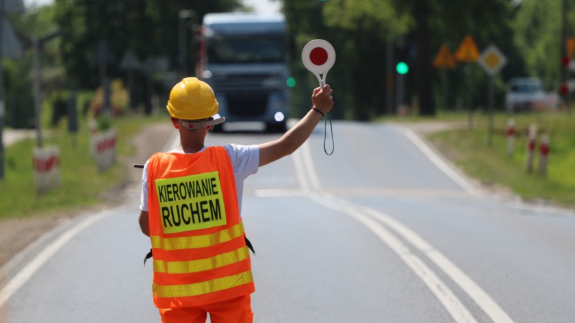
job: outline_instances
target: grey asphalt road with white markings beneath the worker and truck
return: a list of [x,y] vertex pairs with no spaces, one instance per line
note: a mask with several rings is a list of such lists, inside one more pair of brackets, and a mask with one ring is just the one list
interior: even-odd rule
[[[321,126],[245,182],[255,322],[575,322],[573,212],[478,190],[403,127],[334,132],[333,155]],[[131,196],[18,257],[0,291],[5,322],[159,322]]]

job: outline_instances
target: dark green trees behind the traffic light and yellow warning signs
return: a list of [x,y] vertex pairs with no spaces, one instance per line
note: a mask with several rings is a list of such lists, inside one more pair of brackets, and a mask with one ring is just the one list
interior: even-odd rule
[[[337,91],[333,110],[336,117],[368,119],[386,112],[387,88],[391,87],[389,93],[395,96],[397,81],[396,62],[385,62],[387,44],[395,51],[400,36],[410,51],[408,101],[419,101],[418,96],[429,86],[435,105],[439,103],[440,70],[431,69],[433,57],[442,44],[455,52],[467,34],[473,36],[479,51],[496,44],[508,58],[504,73],[496,77],[496,107],[503,108],[507,89],[504,80],[520,75],[517,70],[522,69],[522,53],[509,42],[515,8],[508,0],[285,0],[283,8],[294,34],[296,54],[314,38],[326,39],[335,47],[337,61],[329,72],[328,83]],[[309,104],[308,92],[316,82],[298,62],[298,55],[292,56],[296,59],[292,72],[298,77],[294,105],[305,107]],[[455,98],[465,103],[468,96],[465,65],[471,64],[459,64],[448,71],[450,109],[455,109]],[[477,64],[472,65],[473,105],[486,106],[487,75]]]

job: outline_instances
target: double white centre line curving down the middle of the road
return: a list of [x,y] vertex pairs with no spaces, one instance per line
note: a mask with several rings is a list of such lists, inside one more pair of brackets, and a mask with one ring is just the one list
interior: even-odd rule
[[[415,134],[413,135],[416,136]],[[423,144],[423,142],[421,142],[421,144]],[[309,187],[309,183],[305,183],[306,179],[307,178],[317,179],[318,175],[316,172],[316,168],[314,166],[314,162],[311,159],[311,154],[309,152],[309,144],[305,142],[302,148],[303,149],[298,150],[296,151],[296,153],[294,153],[294,165],[296,166],[296,174],[298,174],[299,172],[302,173],[297,175],[298,181],[300,180],[304,181],[303,183],[300,182],[300,185],[302,185],[302,187],[306,186]],[[309,155],[309,156],[303,157],[302,155]],[[296,161],[296,159],[300,160]],[[446,164],[444,164],[444,166],[448,167]],[[461,178],[461,180],[463,180],[463,178]],[[463,187],[465,188],[465,186]],[[470,188],[472,187],[470,186]],[[452,281],[457,283],[457,285],[459,285],[459,287],[461,287],[461,289],[463,289],[463,291],[467,293],[468,296],[470,296],[470,298],[472,298],[479,307],[481,307],[481,309],[489,316],[489,318],[493,320],[493,322],[496,323],[513,322],[513,320],[509,318],[509,315],[507,315],[507,313],[505,313],[497,305],[497,303],[493,299],[491,299],[491,297],[486,292],[484,292],[483,289],[481,289],[481,287],[479,287],[476,283],[474,283],[474,281],[472,281],[472,279],[470,279],[463,271],[457,268],[457,266],[455,266],[454,263],[449,261],[447,257],[442,255],[442,253],[440,253],[439,250],[435,249],[431,244],[426,242],[422,237],[420,237],[420,235],[413,232],[411,229],[406,227],[404,224],[401,224],[391,216],[387,216],[386,214],[383,214],[380,211],[376,211],[375,209],[354,205],[353,203],[345,201],[342,198],[336,198],[335,196],[321,190],[319,180],[314,181],[312,192],[310,192],[309,197],[312,200],[316,201],[317,203],[325,205],[326,207],[335,209],[337,211],[344,211],[344,213],[348,214],[352,218],[355,218],[363,225],[368,227],[368,229],[373,231],[376,235],[378,235],[378,237],[380,237],[380,239],[383,242],[385,242],[385,244],[387,244],[389,248],[392,248],[392,250],[394,250],[399,255],[399,257],[405,261],[405,263],[407,263],[407,265],[411,268],[411,270],[413,270],[413,272],[415,272],[418,276],[420,276],[420,278],[424,281],[424,283],[426,283],[426,285],[431,289],[433,294],[435,294],[435,296],[439,299],[439,301],[442,302],[444,307],[446,307],[446,310],[449,311],[449,313],[456,320],[456,322],[474,322],[475,319],[472,316],[470,317],[467,316],[466,313],[469,313],[468,309],[466,309],[461,304],[459,299],[457,299],[457,296],[455,295],[451,296],[452,292],[449,289],[446,289],[448,291],[447,294],[444,294],[445,292],[443,290],[435,290],[435,289],[447,288],[442,287],[444,283],[442,283],[442,281],[440,281],[438,278],[437,280],[439,281],[439,283],[441,283],[441,285],[429,285],[429,281],[426,281],[425,279],[430,279],[431,281],[434,281],[435,278],[433,278],[433,276],[435,276],[435,274],[433,273],[433,271],[429,269],[423,263],[423,261],[421,261],[416,255],[411,254],[413,256],[407,258],[403,257],[403,253],[399,253],[398,251],[402,250],[405,251],[407,247],[405,247],[405,249],[399,248],[396,244],[394,244],[395,243],[394,240],[392,240],[392,238],[387,237],[387,235],[392,235],[392,233],[389,233],[389,231],[385,230],[385,228],[383,228],[381,224],[385,224],[387,227],[389,227],[389,229],[392,229],[393,231],[401,235],[407,242],[409,242],[410,244],[418,248],[418,250],[420,250],[422,253],[424,253],[424,255],[426,255],[426,257],[428,257],[431,261],[433,261],[433,263],[435,263],[436,266],[438,266],[447,276],[449,276],[450,279],[452,279]],[[366,220],[366,218],[370,220]],[[385,232],[384,230],[387,232]],[[393,239],[396,238],[393,237]],[[409,249],[407,250],[409,251]],[[417,260],[413,260],[414,258],[412,257],[417,258]],[[415,266],[414,263],[420,263],[419,265],[421,267]],[[422,276],[422,274],[424,275],[428,273],[430,276]]]

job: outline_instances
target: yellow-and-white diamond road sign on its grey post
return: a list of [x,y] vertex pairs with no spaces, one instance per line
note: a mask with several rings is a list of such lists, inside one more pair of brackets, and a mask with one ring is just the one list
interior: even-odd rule
[[485,73],[489,75],[489,93],[487,96],[489,130],[487,131],[487,144],[489,144],[489,146],[493,146],[493,78],[497,73],[499,73],[501,68],[507,64],[507,57],[505,57],[505,55],[503,55],[494,44],[489,44],[489,46],[483,52],[481,52],[481,56],[477,62],[481,67],[483,67]]

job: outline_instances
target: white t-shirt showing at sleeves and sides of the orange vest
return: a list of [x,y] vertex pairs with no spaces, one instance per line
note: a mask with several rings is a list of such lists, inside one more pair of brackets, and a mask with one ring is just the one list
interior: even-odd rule
[[[257,145],[244,146],[239,144],[227,144],[224,146],[226,149],[231,166],[233,168],[233,175],[235,176],[235,191],[238,194],[238,204],[240,207],[240,214],[242,212],[242,197],[244,196],[244,179],[248,176],[255,174],[259,167],[259,148]],[[205,147],[201,150],[205,151]],[[200,152],[201,152],[200,151]],[[180,149],[168,151],[168,153],[181,153]],[[142,172],[142,195],[140,195],[140,209],[148,211],[148,163],[144,165]]]

